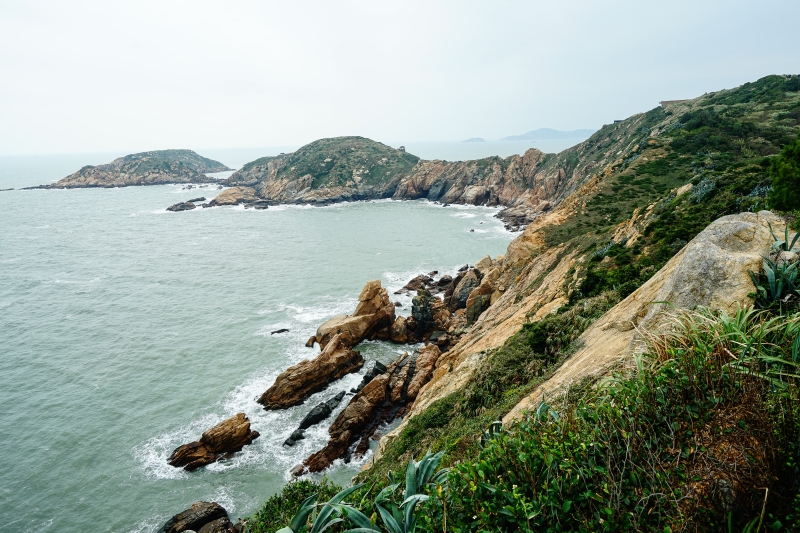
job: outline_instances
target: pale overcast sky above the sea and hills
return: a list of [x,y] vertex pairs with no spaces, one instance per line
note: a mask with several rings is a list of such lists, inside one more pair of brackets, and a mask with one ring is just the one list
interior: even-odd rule
[[599,128],[800,72],[796,0],[0,0],[0,154]]

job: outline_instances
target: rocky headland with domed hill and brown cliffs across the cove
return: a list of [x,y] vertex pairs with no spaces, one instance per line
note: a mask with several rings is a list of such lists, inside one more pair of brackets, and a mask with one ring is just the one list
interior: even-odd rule
[[[641,117],[598,132],[564,152],[475,161],[425,161],[363,137],[321,139],[297,152],[248,163],[225,181],[278,203],[325,205],[377,198],[504,206],[509,226],[530,223],[646,138]],[[577,161],[577,163],[576,163]]]

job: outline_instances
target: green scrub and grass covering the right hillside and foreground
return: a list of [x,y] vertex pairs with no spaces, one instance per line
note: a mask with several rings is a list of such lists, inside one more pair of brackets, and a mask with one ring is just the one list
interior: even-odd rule
[[[775,176],[798,153],[784,147],[800,133],[799,77],[768,76],[677,109],[606,126],[547,161],[604,173],[566,220],[542,228],[547,246],[582,258],[569,304],[483,354],[466,386],[410,419],[357,476],[362,503],[433,450],[452,471],[420,504],[425,531],[800,528],[800,315],[771,303],[796,292],[797,271],[774,257],[753,274],[764,310],[679,315],[636,369],[575,386],[527,423],[496,424],[710,222],[796,209],[776,203]],[[783,242],[792,247],[788,234]]]

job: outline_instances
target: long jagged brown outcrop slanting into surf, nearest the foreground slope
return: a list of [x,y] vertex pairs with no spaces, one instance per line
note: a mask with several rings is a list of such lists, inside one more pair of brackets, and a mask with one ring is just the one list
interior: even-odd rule
[[356,442],[355,453],[369,449],[369,438],[382,423],[403,416],[419,391],[433,375],[441,352],[433,344],[417,355],[405,354],[392,363],[386,372],[373,378],[359,391],[328,429],[328,444],[311,455],[297,472],[320,472],[336,459],[350,459],[350,447]]

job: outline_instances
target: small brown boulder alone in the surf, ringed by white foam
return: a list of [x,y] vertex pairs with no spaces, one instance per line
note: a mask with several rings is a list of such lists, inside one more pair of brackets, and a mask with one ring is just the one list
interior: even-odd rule
[[244,413],[238,413],[207,430],[199,441],[176,448],[167,462],[192,471],[240,451],[258,437],[258,431],[250,429],[250,420]]

